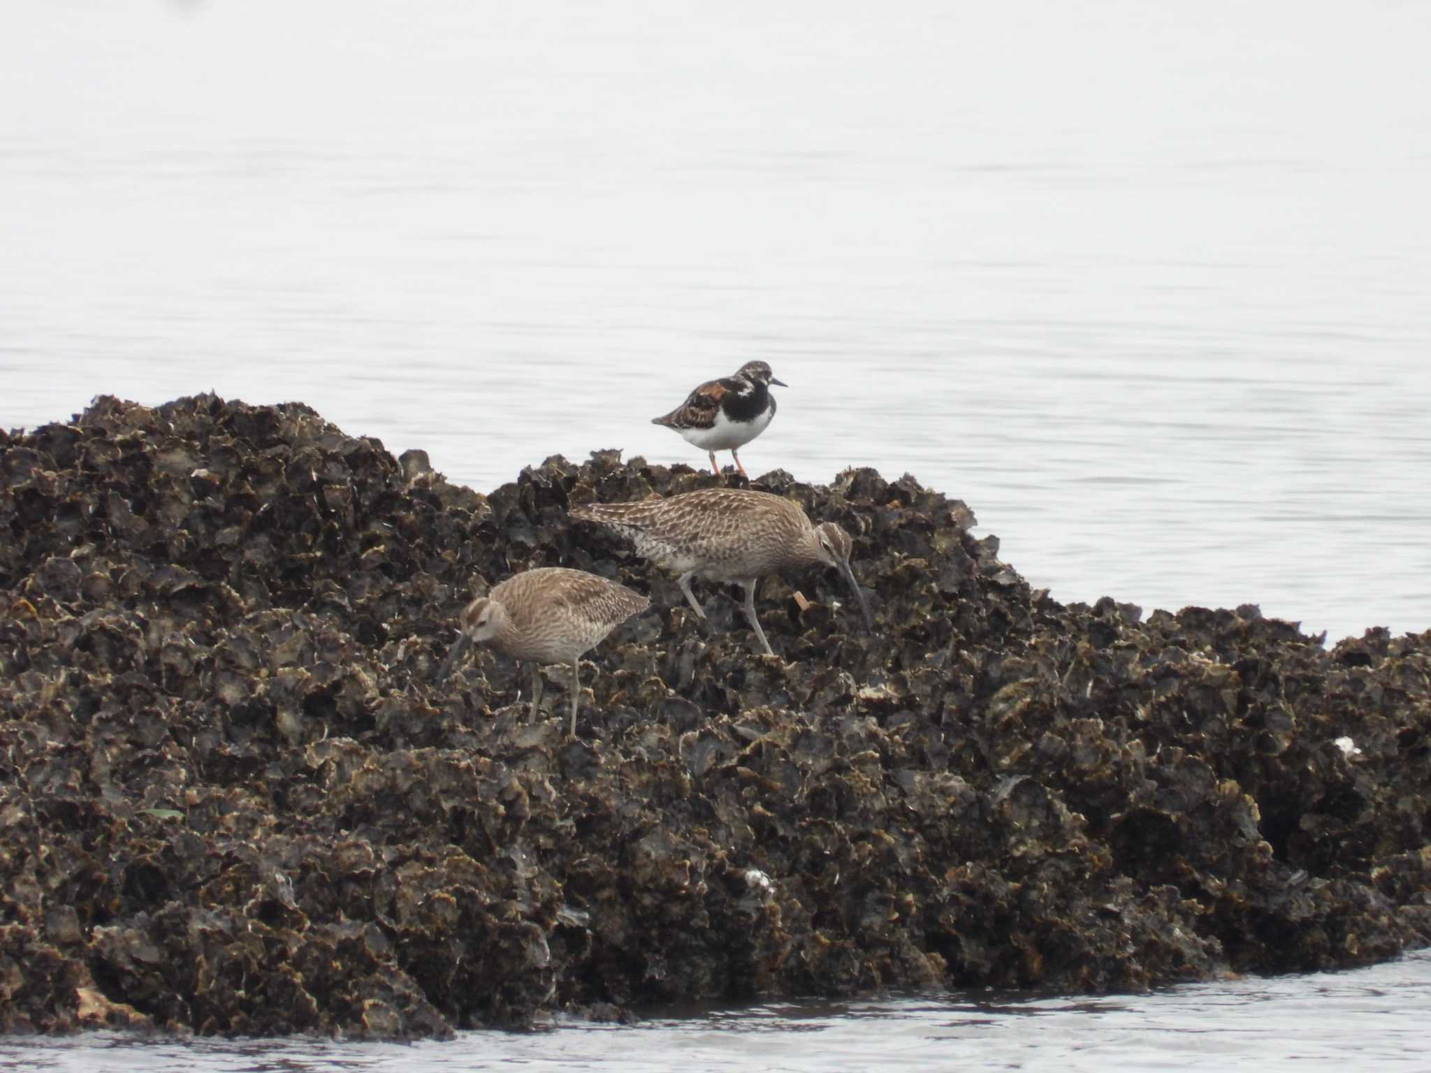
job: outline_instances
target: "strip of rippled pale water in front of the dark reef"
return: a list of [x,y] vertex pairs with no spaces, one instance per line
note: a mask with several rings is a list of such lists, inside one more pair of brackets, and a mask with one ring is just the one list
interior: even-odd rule
[[0,1037],[0,1070],[441,1073],[442,1070],[1431,1069],[1431,953],[1349,973],[1248,979],[1143,996],[947,994],[773,1004],[648,1020],[571,1021],[449,1043],[135,1042]]

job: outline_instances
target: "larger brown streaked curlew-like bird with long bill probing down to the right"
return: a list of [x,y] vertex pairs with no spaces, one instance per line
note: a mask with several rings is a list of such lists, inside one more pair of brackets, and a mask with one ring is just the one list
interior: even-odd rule
[[873,629],[860,582],[850,569],[850,535],[834,522],[811,525],[800,505],[768,492],[704,488],[668,499],[587,504],[572,518],[608,525],[635,542],[638,555],[681,575],[681,592],[700,618],[705,611],[691,592],[691,578],[736,581],[746,589],[746,621],[766,655],[770,641],[756,618],[756,585],[767,574],[824,564],[839,567]]

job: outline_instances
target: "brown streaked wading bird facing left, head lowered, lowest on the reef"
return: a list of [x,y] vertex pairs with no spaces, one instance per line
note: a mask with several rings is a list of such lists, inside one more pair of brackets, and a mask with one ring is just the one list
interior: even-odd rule
[[538,567],[514,574],[462,608],[461,632],[438,668],[438,681],[446,678],[468,645],[489,644],[512,660],[531,664],[535,720],[542,665],[571,664],[571,735],[575,737],[582,654],[648,607],[651,601],[640,592],[584,569]]

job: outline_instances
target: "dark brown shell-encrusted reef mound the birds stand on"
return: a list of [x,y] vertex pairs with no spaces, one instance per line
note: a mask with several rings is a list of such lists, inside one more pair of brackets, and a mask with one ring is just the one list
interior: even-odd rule
[[[736,478],[726,478],[736,481]],[[854,536],[695,629],[552,458],[478,495],[302,405],[0,432],[0,1029],[371,1037],[720,997],[1143,989],[1431,941],[1431,632],[1063,605],[869,469]],[[537,722],[461,605],[570,565],[654,608]]]

